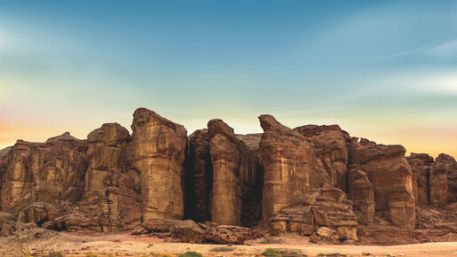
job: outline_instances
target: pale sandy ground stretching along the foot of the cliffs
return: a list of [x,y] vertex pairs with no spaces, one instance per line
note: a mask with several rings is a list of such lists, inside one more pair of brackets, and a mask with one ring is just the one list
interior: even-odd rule
[[[185,253],[196,251],[204,256],[258,256],[266,248],[273,248],[286,256],[322,256],[322,254],[341,253],[347,256],[455,256],[457,242],[426,243],[418,245],[315,245],[303,240],[288,240],[286,244],[248,245],[199,245],[166,242],[165,239],[147,236],[131,236],[127,233],[59,233],[48,246],[49,250],[61,251],[66,256],[85,256],[97,253],[98,256],[145,256],[151,253]],[[290,244],[292,242],[292,244]],[[43,242],[42,242],[43,243]],[[36,244],[41,244],[37,242]],[[34,245],[31,245],[34,248]],[[151,255],[149,255],[151,256]],[[154,256],[154,255],[153,255]]]

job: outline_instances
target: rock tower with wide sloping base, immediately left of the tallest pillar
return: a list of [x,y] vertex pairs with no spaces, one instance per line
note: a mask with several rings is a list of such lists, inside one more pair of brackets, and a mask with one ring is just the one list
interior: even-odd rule
[[131,141],[129,131],[117,123],[107,123],[87,138],[86,192],[69,213],[57,220],[67,230],[114,231],[137,225],[141,222],[139,175],[125,159]]

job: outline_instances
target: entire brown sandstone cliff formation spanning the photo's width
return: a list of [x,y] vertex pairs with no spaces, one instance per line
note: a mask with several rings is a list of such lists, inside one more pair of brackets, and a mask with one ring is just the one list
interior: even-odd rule
[[182,125],[138,108],[131,136],[106,123],[85,140],[69,132],[44,143],[18,140],[0,150],[7,217],[0,234],[27,222],[115,231],[191,219],[358,240],[370,224],[414,230],[416,206],[455,212],[457,162],[449,155],[405,157],[402,145],[352,137],[338,125],[292,129],[272,115],[259,121],[264,133],[236,135],[214,119],[187,136]]

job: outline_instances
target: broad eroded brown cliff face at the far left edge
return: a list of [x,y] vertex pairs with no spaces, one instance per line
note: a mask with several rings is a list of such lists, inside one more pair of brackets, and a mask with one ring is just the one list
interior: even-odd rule
[[64,205],[83,195],[87,142],[69,133],[45,143],[18,140],[7,154],[1,206],[18,214],[33,202]]

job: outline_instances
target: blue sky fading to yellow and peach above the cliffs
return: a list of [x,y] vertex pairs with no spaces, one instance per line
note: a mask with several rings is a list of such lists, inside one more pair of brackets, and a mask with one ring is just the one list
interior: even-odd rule
[[0,148],[138,107],[188,134],[268,113],[457,157],[457,0],[0,0]]

